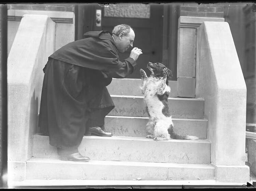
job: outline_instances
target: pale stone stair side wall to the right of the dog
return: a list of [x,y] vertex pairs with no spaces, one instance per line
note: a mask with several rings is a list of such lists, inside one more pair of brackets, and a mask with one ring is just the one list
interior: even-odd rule
[[[204,99],[211,162],[244,166],[246,85],[228,23],[204,22],[198,28],[197,56],[196,97]],[[240,170],[233,172],[245,180],[247,171]]]

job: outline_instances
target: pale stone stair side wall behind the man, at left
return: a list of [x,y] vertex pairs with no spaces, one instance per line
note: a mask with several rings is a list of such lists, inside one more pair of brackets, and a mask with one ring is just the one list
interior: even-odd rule
[[31,157],[37,127],[43,67],[54,51],[55,23],[45,15],[24,15],[8,57],[8,160]]

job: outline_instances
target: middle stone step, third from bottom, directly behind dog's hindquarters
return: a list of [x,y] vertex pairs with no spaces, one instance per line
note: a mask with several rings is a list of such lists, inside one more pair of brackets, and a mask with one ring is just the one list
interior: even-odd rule
[[[145,137],[148,117],[106,116],[105,129],[114,136]],[[207,139],[207,120],[172,119],[174,132],[178,135],[193,135]]]

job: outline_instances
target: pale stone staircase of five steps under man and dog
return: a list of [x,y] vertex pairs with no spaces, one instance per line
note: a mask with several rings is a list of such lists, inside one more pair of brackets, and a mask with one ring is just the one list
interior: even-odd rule
[[211,143],[207,140],[204,100],[177,98],[177,82],[169,81],[174,131],[199,140],[147,139],[147,113],[140,79],[113,79],[107,87],[115,108],[105,118],[113,137],[84,136],[79,151],[89,162],[61,161],[47,136],[34,135],[26,180],[214,180]]

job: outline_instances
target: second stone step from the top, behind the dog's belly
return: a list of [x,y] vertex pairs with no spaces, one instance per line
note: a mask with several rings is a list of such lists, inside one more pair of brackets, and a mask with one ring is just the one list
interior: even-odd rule
[[[115,108],[109,116],[148,117],[143,96],[111,95]],[[203,119],[204,100],[197,98],[169,98],[172,118]]]

